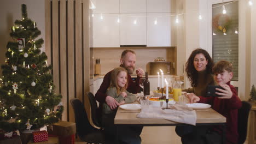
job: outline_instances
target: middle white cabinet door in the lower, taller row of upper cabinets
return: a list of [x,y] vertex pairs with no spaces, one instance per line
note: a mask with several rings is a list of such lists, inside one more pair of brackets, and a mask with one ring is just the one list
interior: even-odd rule
[[120,14],[120,45],[146,45],[146,13]]

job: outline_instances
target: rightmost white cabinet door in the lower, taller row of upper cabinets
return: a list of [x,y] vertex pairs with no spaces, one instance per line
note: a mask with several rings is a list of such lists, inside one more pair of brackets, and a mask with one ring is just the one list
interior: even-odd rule
[[171,13],[147,13],[147,46],[171,46]]

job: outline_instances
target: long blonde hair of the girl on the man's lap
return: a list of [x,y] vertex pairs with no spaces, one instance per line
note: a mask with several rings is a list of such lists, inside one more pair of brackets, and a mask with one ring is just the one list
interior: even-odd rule
[[119,87],[118,86],[118,83],[117,83],[117,76],[119,75],[119,73],[121,71],[125,71],[126,73],[126,76],[128,77],[128,74],[127,74],[127,70],[123,67],[118,67],[118,68],[115,68],[112,70],[111,72],[111,79],[110,79],[110,85],[109,87],[115,87],[117,88],[117,94],[119,95],[121,92],[125,92],[126,88],[127,88],[127,82],[128,82],[128,79],[127,79],[127,82],[125,83],[125,86],[124,87]]

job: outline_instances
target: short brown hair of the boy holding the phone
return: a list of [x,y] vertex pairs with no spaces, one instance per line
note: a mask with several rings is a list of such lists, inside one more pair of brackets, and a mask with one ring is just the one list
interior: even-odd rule
[[228,61],[222,60],[217,62],[212,68],[213,74],[223,73],[224,70],[228,71],[229,73],[232,72],[232,64]]

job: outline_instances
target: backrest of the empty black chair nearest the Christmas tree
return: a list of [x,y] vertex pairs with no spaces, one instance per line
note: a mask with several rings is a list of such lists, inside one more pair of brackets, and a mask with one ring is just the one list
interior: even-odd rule
[[74,109],[75,125],[77,127],[78,136],[84,136],[94,131],[94,127],[90,124],[88,116],[84,109],[84,104],[77,98],[70,100],[71,105]]

